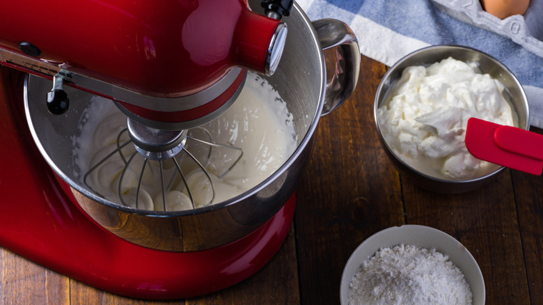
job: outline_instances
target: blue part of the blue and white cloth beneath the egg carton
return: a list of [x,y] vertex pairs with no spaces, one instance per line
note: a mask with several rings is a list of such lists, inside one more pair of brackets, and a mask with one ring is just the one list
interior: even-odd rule
[[[430,0],[304,0],[300,2],[311,20],[336,18],[351,25],[357,16],[361,16],[402,36],[415,38],[429,45],[464,45],[494,56],[513,72],[523,86],[530,87],[530,96],[528,96],[530,111],[537,111],[533,114],[537,122],[535,125],[543,127],[543,113],[539,113],[540,109],[543,109],[543,57],[528,51],[511,38],[461,21]],[[533,14],[533,12],[530,13]],[[543,20],[543,12],[541,13],[541,20]],[[372,31],[371,28],[353,30],[357,36]],[[378,44],[379,41],[376,40],[375,45]],[[543,54],[543,50],[540,54]],[[534,107],[531,104],[535,104]]]

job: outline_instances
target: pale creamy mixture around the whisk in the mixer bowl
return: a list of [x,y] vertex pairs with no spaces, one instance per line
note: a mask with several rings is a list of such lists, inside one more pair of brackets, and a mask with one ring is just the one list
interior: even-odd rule
[[[79,169],[77,176],[83,176],[117,147],[117,137],[127,125],[127,119],[113,103],[102,97],[93,97],[79,124],[81,132],[74,139],[74,164]],[[297,148],[292,114],[286,103],[272,86],[262,77],[249,73],[246,84],[236,102],[226,111],[202,127],[212,136],[212,141],[242,148],[242,159],[223,178],[218,176],[228,171],[239,157],[239,150],[213,148],[208,158],[209,146],[187,139],[186,148],[201,163],[207,163],[215,197],[210,181],[184,152],[178,158],[186,178],[195,208],[219,203],[233,198],[255,187],[268,178],[290,157]],[[210,141],[209,136],[198,128],[189,131],[189,136]],[[120,143],[129,139],[126,132],[121,134]],[[128,159],[135,148],[129,143],[122,152]],[[159,163],[149,161],[145,166],[138,205],[136,193],[143,157],[135,155],[131,166],[123,176],[122,188],[125,205],[144,210],[189,210],[193,208],[184,182],[171,160],[164,161],[162,175],[165,192],[162,194]],[[207,160],[207,162],[205,162]],[[107,159],[87,178],[87,183],[99,195],[114,203],[120,202],[119,181],[125,161],[118,153]]]

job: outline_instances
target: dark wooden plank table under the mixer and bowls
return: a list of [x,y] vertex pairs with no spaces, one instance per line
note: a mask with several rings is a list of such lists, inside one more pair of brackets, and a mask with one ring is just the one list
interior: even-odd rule
[[[469,249],[485,278],[487,304],[543,304],[543,178],[507,170],[457,195],[412,185],[377,139],[372,107],[385,72],[363,57],[354,95],[320,120],[297,187],[294,223],[276,256],[233,287],[169,303],[339,304],[343,267],[363,240],[391,226],[420,224]],[[6,249],[0,249],[0,277],[0,304],[164,303],[111,295]]]

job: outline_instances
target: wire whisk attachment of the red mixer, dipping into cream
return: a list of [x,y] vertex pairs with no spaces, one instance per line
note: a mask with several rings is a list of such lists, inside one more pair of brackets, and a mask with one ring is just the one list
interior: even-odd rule
[[97,196],[128,207],[171,211],[210,205],[216,198],[213,181],[243,156],[242,148],[216,143],[203,127],[155,130],[129,118],[127,126],[116,143],[96,154],[83,181]]

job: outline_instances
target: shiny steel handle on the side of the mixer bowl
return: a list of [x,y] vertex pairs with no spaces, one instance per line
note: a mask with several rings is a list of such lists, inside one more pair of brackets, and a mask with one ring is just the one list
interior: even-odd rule
[[360,49],[356,36],[344,22],[319,19],[312,23],[322,49],[336,48],[336,68],[333,77],[326,83],[321,114],[324,116],[338,108],[354,92],[360,72]]

